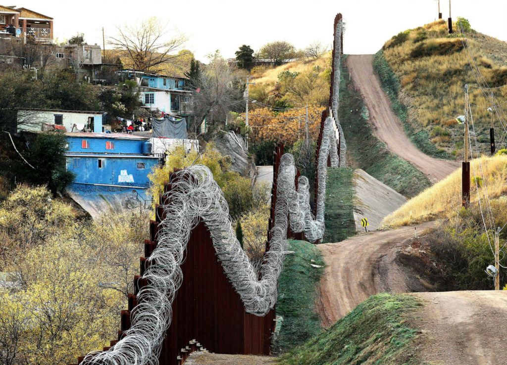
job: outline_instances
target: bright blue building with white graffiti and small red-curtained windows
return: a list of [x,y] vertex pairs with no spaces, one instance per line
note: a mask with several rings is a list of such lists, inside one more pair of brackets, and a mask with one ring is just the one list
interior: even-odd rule
[[151,208],[148,174],[159,164],[148,138],[116,133],[67,133],[68,194],[94,219],[106,210]]

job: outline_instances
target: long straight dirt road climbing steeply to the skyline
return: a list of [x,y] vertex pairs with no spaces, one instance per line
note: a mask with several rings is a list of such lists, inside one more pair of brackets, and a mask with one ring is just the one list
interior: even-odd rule
[[430,157],[409,140],[401,120],[393,113],[391,102],[380,86],[373,71],[373,55],[349,55],[347,68],[355,87],[360,91],[370,111],[370,119],[377,137],[387,144],[389,150],[413,164],[428,176],[431,182],[445,178],[459,167],[454,161]]

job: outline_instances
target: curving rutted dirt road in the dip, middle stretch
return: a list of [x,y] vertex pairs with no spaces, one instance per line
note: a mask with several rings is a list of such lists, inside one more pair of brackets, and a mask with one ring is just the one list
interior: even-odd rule
[[327,265],[320,281],[317,311],[324,327],[332,326],[355,306],[374,294],[405,293],[409,275],[392,262],[384,262],[389,253],[424,233],[433,223],[408,226],[390,231],[361,234],[337,244],[318,245]]

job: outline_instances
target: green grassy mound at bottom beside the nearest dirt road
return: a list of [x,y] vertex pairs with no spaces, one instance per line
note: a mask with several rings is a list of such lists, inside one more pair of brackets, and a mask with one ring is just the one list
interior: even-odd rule
[[281,357],[281,365],[418,364],[417,330],[406,313],[420,306],[410,295],[378,294],[333,327]]

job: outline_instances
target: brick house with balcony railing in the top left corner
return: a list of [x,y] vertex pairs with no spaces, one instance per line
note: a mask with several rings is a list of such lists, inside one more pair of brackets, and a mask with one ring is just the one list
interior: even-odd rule
[[32,35],[39,42],[53,42],[53,18],[26,8],[0,5],[0,29],[3,35],[11,35],[4,31],[12,24],[16,28],[16,36]]

